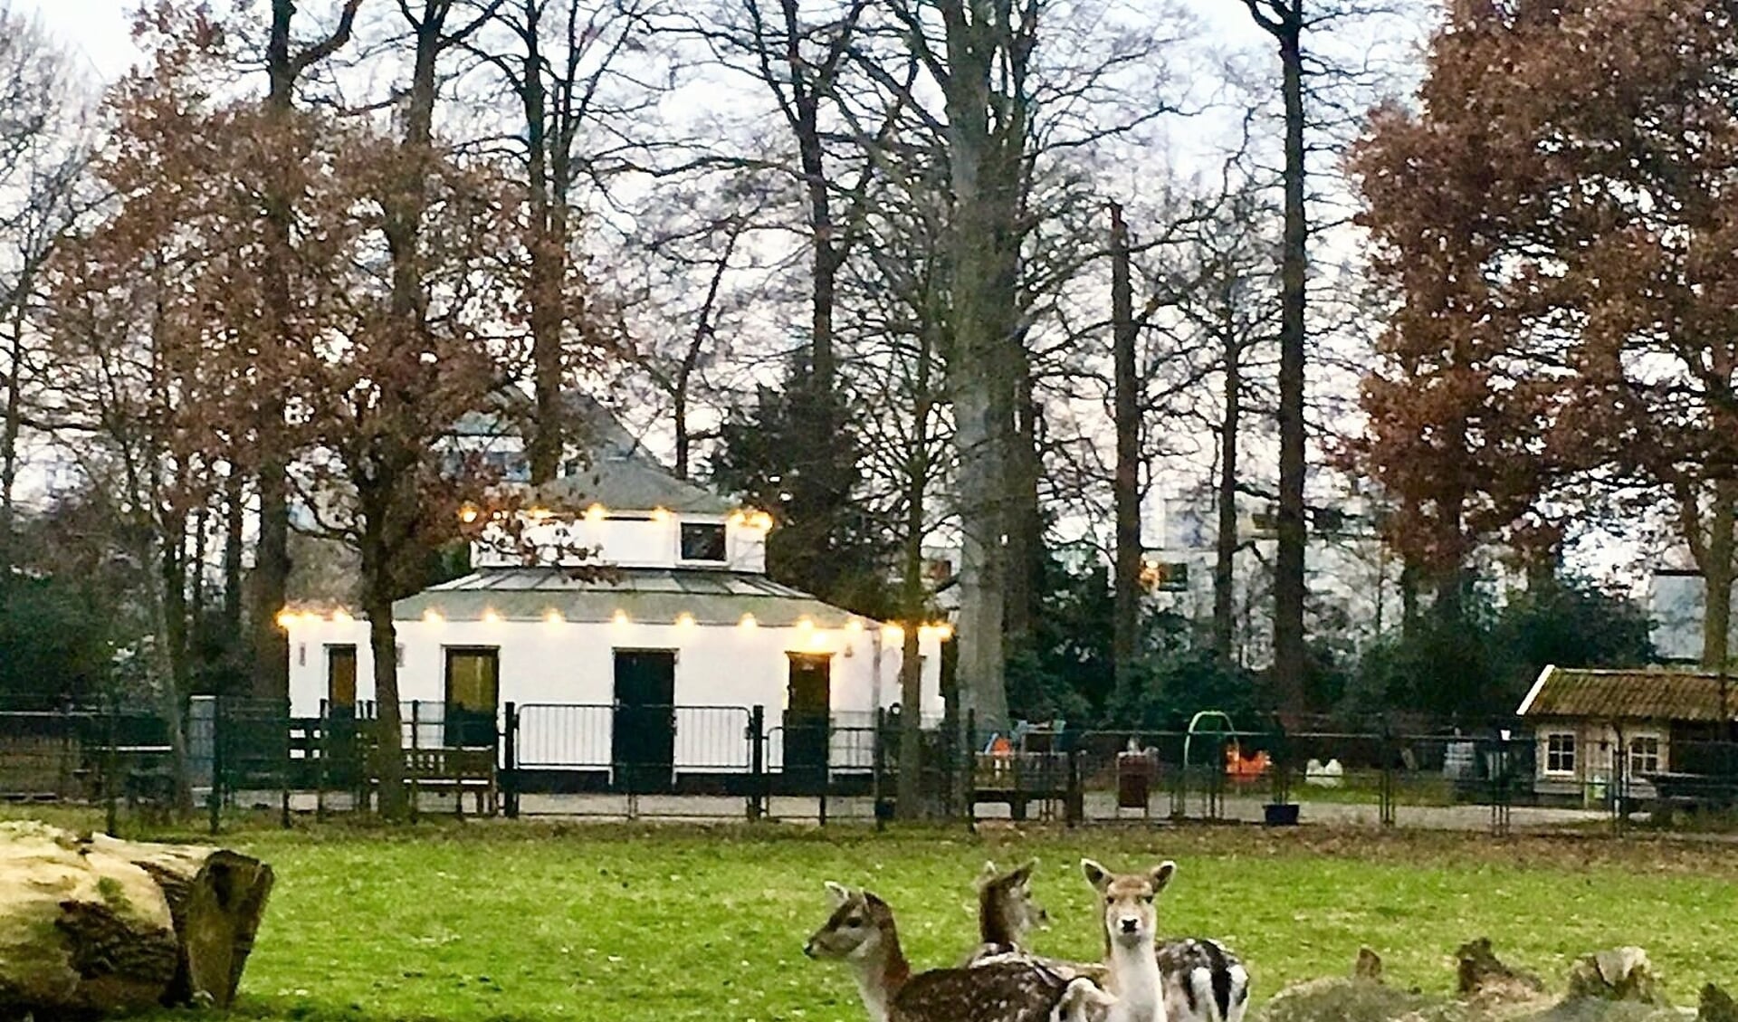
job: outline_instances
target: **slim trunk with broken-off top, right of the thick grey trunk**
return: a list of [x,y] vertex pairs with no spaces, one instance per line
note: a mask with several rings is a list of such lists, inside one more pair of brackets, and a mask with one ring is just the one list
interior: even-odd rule
[[1128,224],[1111,203],[1111,344],[1116,403],[1116,619],[1111,659],[1116,694],[1128,694],[1140,643],[1140,377],[1135,368],[1135,294],[1128,268]]

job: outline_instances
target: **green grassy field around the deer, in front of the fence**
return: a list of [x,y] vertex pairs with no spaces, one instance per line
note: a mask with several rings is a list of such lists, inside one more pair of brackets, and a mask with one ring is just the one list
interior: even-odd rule
[[1641,944],[1681,1003],[1738,977],[1738,857],[1728,845],[1274,833],[1253,827],[961,831],[620,829],[422,824],[405,831],[249,831],[278,886],[243,980],[255,1019],[862,1019],[850,979],[803,958],[824,879],[892,902],[912,961],[973,940],[984,859],[1043,862],[1055,928],[1041,951],[1097,949],[1081,855],[1180,864],[1171,933],[1225,939],[1257,999],[1340,975],[1359,944],[1390,982],[1446,992],[1453,949],[1498,954],[1561,986],[1585,951]]

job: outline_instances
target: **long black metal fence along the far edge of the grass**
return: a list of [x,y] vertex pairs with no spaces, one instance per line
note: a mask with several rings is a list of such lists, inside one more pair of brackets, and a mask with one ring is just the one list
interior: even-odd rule
[[[106,808],[109,827],[189,803],[226,817],[367,812],[396,772],[412,813],[507,817],[1244,820],[1444,829],[1726,820],[1738,744],[1618,740],[1554,777],[1519,727],[1370,730],[1025,730],[897,714],[827,720],[761,706],[506,704],[494,723],[440,702],[379,706],[196,697],[179,735],[144,706],[0,707],[0,798]],[[904,744],[919,744],[916,775]],[[1665,766],[1670,766],[1668,770]]]

